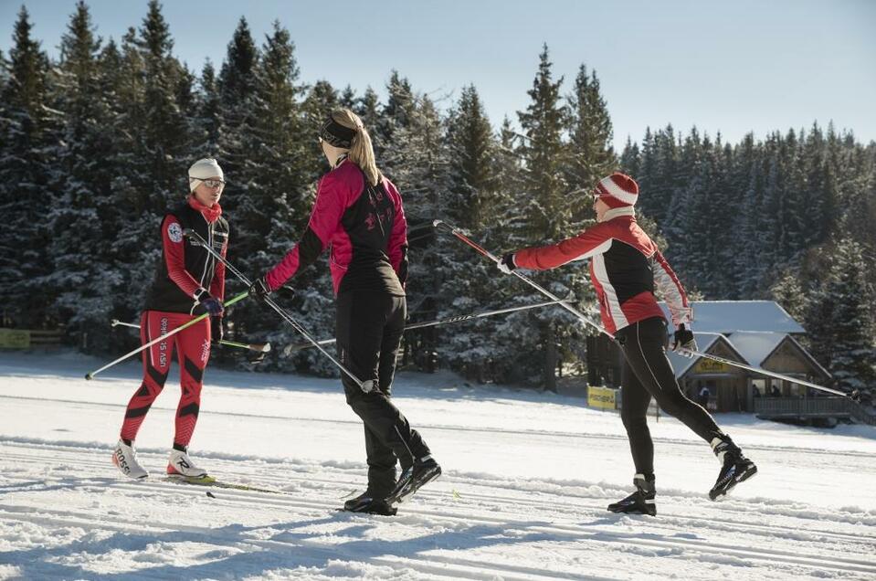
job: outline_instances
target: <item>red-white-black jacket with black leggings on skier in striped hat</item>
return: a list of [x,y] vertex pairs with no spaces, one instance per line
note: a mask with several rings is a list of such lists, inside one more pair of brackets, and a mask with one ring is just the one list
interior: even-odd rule
[[707,442],[721,431],[712,416],[684,394],[666,357],[669,333],[654,297],[660,289],[670,307],[672,322],[690,327],[693,319],[687,295],[660,249],[639,227],[632,208],[609,210],[607,219],[573,238],[544,248],[514,254],[524,269],[554,269],[575,260],[590,259],[590,280],[607,331],[615,335],[624,354],[621,372],[621,418],[627,428],[636,471],[652,477],[654,445],[646,414],[653,396]]

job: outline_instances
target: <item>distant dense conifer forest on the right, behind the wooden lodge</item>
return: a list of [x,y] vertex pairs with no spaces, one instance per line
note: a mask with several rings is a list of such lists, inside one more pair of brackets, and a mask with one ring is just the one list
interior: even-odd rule
[[813,124],[722,143],[667,127],[628,143],[641,210],[706,299],[775,299],[841,386],[876,382],[876,143]]

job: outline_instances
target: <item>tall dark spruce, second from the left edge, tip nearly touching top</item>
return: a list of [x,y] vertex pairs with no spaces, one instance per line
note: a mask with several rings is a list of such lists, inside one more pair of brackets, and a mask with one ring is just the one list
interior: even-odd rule
[[[56,297],[51,312],[78,333],[90,349],[106,349],[111,333],[94,333],[114,311],[123,272],[114,264],[111,244],[119,211],[112,192],[109,95],[101,92],[100,39],[89,8],[79,2],[61,37],[54,108],[62,113],[58,145],[58,204],[48,213],[54,235],[47,290]],[[86,252],[86,248],[88,251]]]

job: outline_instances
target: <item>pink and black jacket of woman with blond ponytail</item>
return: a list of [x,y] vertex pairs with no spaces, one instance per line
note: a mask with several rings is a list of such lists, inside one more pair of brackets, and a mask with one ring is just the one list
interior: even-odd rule
[[335,295],[382,290],[405,296],[407,222],[401,195],[389,180],[368,185],[349,160],[323,175],[304,236],[265,276],[270,289],[279,289],[326,247]]

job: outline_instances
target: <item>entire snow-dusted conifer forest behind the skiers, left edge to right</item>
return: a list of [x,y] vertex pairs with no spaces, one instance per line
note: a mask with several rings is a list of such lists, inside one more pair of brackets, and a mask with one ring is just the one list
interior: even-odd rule
[[[596,73],[582,65],[572,82],[555,78],[546,46],[530,104],[516,125],[506,118],[494,129],[474,85],[437,103],[395,70],[385,100],[370,87],[304,83],[279,22],[257,39],[241,18],[222,63],[207,61],[200,72],[174,57],[154,0],[118,42],[98,37],[80,2],[57,60],[31,26],[22,8],[14,46],[0,53],[6,325],[61,326],[92,352],[135,344],[108,322],[133,320],[141,309],[160,256],[161,216],[184,199],[186,168],[200,157],[216,157],[227,175],[228,258],[261,274],[306,225],[325,170],[316,130],[344,106],[371,128],[378,164],[405,197],[412,321],[541,299],[436,233],[433,219],[497,252],[563,238],[592,220],[596,180],[622,167],[642,186],[642,222],[661,233],[692,289],[709,299],[775,296],[816,329],[813,349],[824,362],[849,369],[850,381],[872,376],[876,147],[848,133],[813,126],[730,145],[668,127],[628,143],[618,160]],[[583,309],[592,303],[584,269],[535,278],[556,294],[574,293]],[[280,301],[312,333],[330,336],[328,269],[307,269],[293,286]],[[228,287],[229,296],[243,290],[233,279]],[[237,338],[301,342],[251,301],[227,321]],[[585,333],[555,309],[521,312],[408,333],[405,358],[552,387],[558,368],[580,365]],[[333,373],[313,350],[280,349],[263,368]]]

